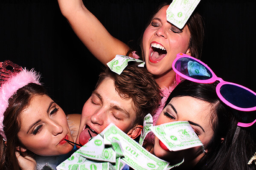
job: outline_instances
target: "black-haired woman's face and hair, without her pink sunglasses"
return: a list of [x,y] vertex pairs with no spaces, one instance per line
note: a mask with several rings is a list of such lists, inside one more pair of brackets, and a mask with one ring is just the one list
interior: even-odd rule
[[[255,133],[239,122],[252,122],[249,113],[226,105],[216,94],[218,81],[203,84],[181,81],[166,101],[156,125],[188,121],[204,144],[186,150],[170,151],[155,137],[151,153],[177,164],[173,170],[255,170]],[[256,96],[255,96],[256,97]],[[254,154],[254,157],[253,157]],[[251,159],[251,160],[250,160]]]

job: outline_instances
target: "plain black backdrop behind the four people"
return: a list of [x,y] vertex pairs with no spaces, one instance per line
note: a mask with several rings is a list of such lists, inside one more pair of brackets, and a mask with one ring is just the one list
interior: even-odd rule
[[[86,0],[108,31],[135,49],[161,0]],[[256,91],[255,0],[201,0],[207,37],[201,60],[218,77]],[[102,64],[80,42],[57,0],[1,0],[0,61],[35,68],[66,113],[81,113]]]

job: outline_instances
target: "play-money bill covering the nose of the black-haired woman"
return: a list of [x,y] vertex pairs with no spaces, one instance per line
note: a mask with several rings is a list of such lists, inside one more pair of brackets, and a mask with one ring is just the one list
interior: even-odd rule
[[171,151],[202,146],[203,144],[187,121],[175,121],[151,127],[157,138]]

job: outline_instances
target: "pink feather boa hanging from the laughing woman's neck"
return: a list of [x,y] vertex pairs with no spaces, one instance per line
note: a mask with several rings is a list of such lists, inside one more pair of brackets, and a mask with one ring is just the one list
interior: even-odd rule
[[[166,100],[168,99],[169,95],[171,94],[172,90],[176,87],[177,83],[175,82],[174,85],[170,86],[169,88],[162,88],[162,100],[160,106],[157,108],[156,113],[153,115],[153,125],[156,125],[157,118],[160,113],[163,111],[164,105],[166,104]],[[150,132],[145,137],[145,141],[154,143],[154,133]]]

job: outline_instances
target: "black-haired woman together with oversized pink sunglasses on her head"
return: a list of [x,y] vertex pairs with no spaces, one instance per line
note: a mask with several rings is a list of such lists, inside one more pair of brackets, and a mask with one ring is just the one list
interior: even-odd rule
[[177,54],[172,68],[179,84],[168,97],[156,125],[188,121],[204,144],[204,151],[194,147],[172,152],[156,136],[154,144],[145,143],[145,147],[171,164],[184,159],[177,169],[255,169],[251,163],[255,160],[256,141],[251,126],[256,119],[250,116],[256,111],[256,93],[224,81],[204,62],[186,54]]

